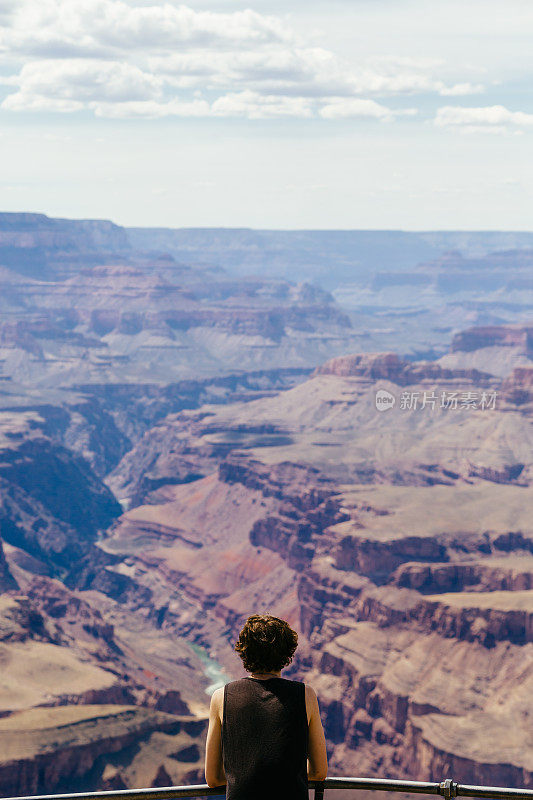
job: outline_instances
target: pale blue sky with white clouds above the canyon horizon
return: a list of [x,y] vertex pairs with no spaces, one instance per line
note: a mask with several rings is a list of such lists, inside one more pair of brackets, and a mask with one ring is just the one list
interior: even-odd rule
[[0,211],[532,230],[531,0],[0,0]]

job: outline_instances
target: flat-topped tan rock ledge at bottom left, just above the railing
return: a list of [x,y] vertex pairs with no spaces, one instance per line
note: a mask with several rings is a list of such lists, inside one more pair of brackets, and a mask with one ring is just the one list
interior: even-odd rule
[[13,714],[0,719],[0,791],[160,786],[163,770],[164,785],[179,783],[201,769],[204,731],[204,721],[120,705]]

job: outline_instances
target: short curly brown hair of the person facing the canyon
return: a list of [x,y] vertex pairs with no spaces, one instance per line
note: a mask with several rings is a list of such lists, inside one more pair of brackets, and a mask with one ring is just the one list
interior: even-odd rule
[[247,672],[279,672],[290,664],[297,647],[296,631],[270,614],[248,617],[235,644]]

